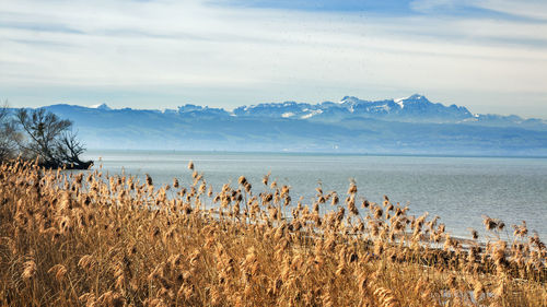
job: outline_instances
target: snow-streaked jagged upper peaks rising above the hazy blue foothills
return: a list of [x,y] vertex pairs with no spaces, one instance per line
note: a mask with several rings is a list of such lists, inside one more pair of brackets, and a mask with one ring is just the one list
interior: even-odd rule
[[[71,113],[78,106],[54,105],[48,108],[58,113]],[[311,120],[317,122],[338,122],[350,119],[371,118],[399,122],[431,122],[431,123],[462,123],[490,127],[520,126],[527,129],[547,129],[547,122],[540,119],[523,119],[517,116],[479,115],[472,114],[466,107],[432,103],[426,96],[414,94],[406,98],[389,98],[382,101],[364,101],[354,96],[345,96],[338,103],[323,102],[307,104],[296,102],[263,103],[241,106],[232,111],[223,108],[210,108],[186,104],[176,109],[163,110],[132,110],[130,108],[113,109],[106,104],[98,104],[90,108],[78,107],[93,111],[128,113],[144,111],[163,114],[165,116],[181,116],[185,118],[271,118],[290,120]],[[81,111],[77,113],[79,116]]]

